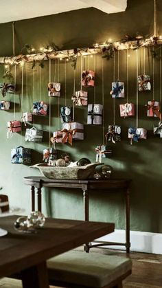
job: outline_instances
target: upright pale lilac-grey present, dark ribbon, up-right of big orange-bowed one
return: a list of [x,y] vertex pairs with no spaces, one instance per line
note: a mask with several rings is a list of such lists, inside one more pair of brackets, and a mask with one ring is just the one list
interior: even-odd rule
[[87,124],[101,125],[102,124],[102,104],[89,104]]

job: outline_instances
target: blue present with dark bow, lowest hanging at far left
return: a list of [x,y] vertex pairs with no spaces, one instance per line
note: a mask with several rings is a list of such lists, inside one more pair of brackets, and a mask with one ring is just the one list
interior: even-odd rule
[[19,146],[11,149],[11,163],[31,164],[31,149]]

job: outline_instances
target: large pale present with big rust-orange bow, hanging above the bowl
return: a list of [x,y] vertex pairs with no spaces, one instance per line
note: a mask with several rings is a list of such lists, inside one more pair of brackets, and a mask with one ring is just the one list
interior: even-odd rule
[[84,126],[78,122],[62,123],[62,143],[84,140]]

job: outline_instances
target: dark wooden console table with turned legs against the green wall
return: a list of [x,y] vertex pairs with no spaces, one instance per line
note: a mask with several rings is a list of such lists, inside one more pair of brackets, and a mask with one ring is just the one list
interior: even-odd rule
[[41,189],[43,187],[57,187],[57,188],[80,188],[83,195],[84,203],[84,221],[89,221],[89,190],[106,190],[106,192],[124,191],[125,195],[125,216],[126,216],[126,243],[93,241],[96,244],[91,245],[87,243],[84,250],[89,252],[91,247],[106,246],[106,245],[122,245],[126,247],[126,252],[130,252],[130,179],[108,179],[108,180],[73,180],[73,179],[47,179],[46,177],[24,177],[24,183],[30,186],[32,195],[32,211],[35,210],[35,188],[37,195],[38,211],[42,210]]

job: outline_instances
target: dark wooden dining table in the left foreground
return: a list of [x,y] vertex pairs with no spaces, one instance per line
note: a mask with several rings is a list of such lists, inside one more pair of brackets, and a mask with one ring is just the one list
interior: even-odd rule
[[0,278],[21,272],[23,288],[49,287],[47,259],[114,231],[114,223],[46,219],[34,234],[18,232],[18,216],[0,217]]

